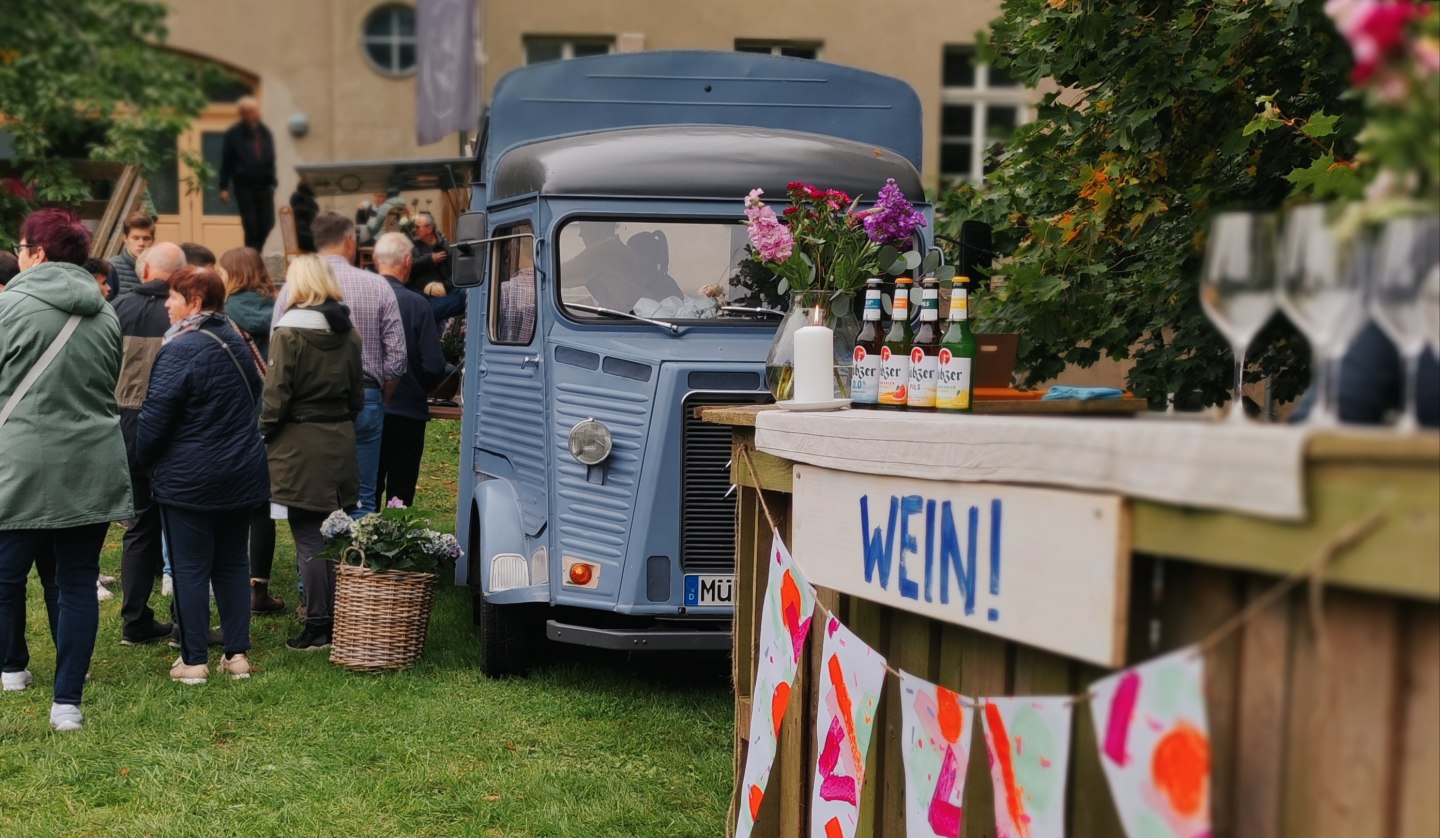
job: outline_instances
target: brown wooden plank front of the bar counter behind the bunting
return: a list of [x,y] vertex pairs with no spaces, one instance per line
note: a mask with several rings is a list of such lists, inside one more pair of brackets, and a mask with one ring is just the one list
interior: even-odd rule
[[[766,471],[760,467],[760,471]],[[742,487],[736,562],[736,776],[744,760],[755,631],[770,544],[756,490]],[[766,491],[789,534],[789,495]],[[1208,636],[1273,577],[1136,557],[1129,661]],[[989,635],[819,592],[886,658],[966,695],[1079,694],[1106,675]],[[816,626],[819,615],[816,613]],[[780,737],[756,835],[809,835],[815,685],[812,632]],[[1421,838],[1440,834],[1440,606],[1326,589],[1316,611],[1300,589],[1246,623],[1205,658],[1215,838]],[[897,685],[888,678],[865,773],[858,835],[904,835]],[[737,799],[737,798],[736,798]],[[966,775],[963,835],[989,838],[994,798],[984,734]],[[1123,835],[1100,769],[1089,707],[1073,729],[1067,834]],[[733,831],[734,818],[727,829]]]

